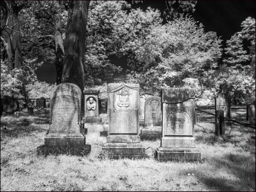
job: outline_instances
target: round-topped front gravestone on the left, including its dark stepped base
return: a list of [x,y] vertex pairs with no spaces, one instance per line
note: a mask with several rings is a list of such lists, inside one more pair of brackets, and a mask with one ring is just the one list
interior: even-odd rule
[[61,83],[50,94],[50,129],[38,153],[84,155],[91,151],[80,133],[82,92],[77,85]]

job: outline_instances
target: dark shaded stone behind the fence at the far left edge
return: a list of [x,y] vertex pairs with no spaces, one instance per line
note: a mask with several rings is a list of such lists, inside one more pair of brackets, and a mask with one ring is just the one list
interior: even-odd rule
[[16,98],[11,96],[4,95],[1,99],[1,112],[6,113],[14,113],[15,111],[19,111],[19,102]]

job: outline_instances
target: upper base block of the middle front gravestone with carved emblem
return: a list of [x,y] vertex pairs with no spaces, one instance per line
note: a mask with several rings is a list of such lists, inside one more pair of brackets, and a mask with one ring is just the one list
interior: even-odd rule
[[108,135],[107,143],[140,143],[139,135]]

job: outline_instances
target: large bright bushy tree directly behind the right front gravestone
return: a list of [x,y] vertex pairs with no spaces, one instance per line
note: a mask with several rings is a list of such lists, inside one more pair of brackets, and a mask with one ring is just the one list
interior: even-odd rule
[[215,32],[205,33],[202,24],[186,16],[153,28],[137,41],[143,39],[145,43],[136,43],[133,49],[130,66],[134,71],[127,81],[154,93],[162,87],[193,87],[202,94],[210,87],[209,76],[222,54]]

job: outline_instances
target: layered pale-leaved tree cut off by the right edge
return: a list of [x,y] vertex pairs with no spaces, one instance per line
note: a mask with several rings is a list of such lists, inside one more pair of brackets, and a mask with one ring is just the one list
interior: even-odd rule
[[[255,100],[255,19],[248,17],[241,27],[226,42],[224,64],[212,76],[216,93],[229,94],[234,105]],[[248,51],[243,41],[250,42]]]

